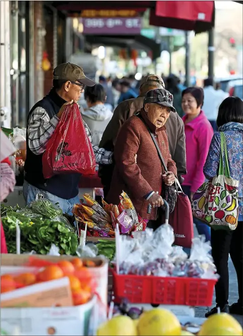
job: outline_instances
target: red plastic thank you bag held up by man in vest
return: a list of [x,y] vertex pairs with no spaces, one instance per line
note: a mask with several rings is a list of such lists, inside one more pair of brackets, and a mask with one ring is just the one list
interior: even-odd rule
[[44,178],[95,174],[95,156],[77,104],[67,105],[42,158]]

